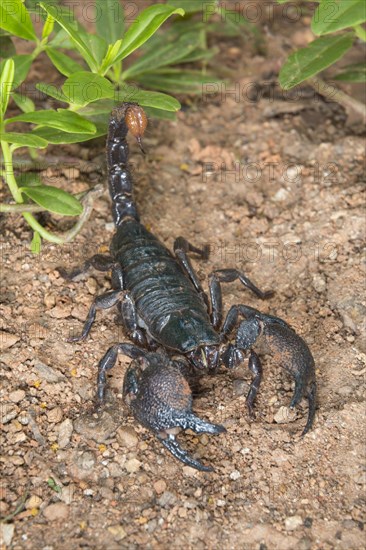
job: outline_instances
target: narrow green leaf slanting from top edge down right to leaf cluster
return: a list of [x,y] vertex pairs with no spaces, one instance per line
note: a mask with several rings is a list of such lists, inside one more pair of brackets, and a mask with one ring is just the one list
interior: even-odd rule
[[52,6],[45,2],[40,2],[39,5],[67,32],[89,67],[92,71],[96,71],[98,64],[90,53],[88,41],[85,39],[88,34],[80,24],[73,20],[72,13],[64,8],[61,9],[60,6]]

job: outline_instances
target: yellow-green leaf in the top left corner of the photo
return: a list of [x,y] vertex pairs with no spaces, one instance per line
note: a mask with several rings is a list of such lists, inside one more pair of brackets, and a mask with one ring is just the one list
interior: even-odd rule
[[37,40],[31,18],[22,0],[4,0],[0,4],[0,28],[25,40]]

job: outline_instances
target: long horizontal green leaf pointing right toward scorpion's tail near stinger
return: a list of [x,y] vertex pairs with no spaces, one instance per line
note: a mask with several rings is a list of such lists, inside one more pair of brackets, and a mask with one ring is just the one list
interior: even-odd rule
[[5,123],[10,122],[31,122],[38,126],[47,126],[48,128],[56,128],[67,133],[82,133],[94,134],[95,126],[82,116],[67,109],[52,109],[45,111],[35,111],[34,113],[26,113],[13,118],[8,118]]

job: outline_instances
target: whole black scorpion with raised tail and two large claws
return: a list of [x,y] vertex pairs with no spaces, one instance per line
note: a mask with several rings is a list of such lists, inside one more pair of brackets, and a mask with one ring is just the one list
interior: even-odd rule
[[[176,437],[187,429],[208,434],[226,431],[224,426],[194,414],[190,373],[215,373],[220,365],[235,368],[248,352],[248,367],[253,378],[246,403],[253,415],[253,403],[262,379],[262,366],[254,347],[264,340],[269,352],[295,379],[290,407],[295,407],[302,397],[308,399],[305,434],[312,427],[316,408],[314,359],[305,341],[278,317],[245,305],[234,305],[222,322],[222,283],[239,280],[260,299],[271,297],[273,292],[263,292],[237,269],[220,269],[209,276],[209,301],[188,256],[194,253],[207,259],[209,247],[200,249],[178,237],[173,255],[140,222],[133,199],[126,138],[130,132],[144,153],[142,137],[146,126],[146,114],[136,103],[122,103],[111,113],[107,166],[116,232],[110,255],[94,255],[68,277],[73,278],[90,267],[111,271],[113,290],[95,298],[81,335],[69,341],[87,337],[98,309],[117,306],[120,321],[132,343],[111,346],[100,360],[97,402],[102,405],[105,401],[106,373],[115,365],[118,353],[128,356],[132,362],[125,373],[123,398],[135,419],[178,460],[210,472],[213,468],[191,456]],[[237,326],[232,343],[231,335]]]

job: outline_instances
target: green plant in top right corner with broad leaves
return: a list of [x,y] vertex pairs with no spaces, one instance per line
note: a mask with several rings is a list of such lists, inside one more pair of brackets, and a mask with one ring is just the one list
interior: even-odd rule
[[[309,82],[319,93],[329,95],[355,109],[366,117],[365,106],[347,96],[340,90],[325,84],[315,75],[327,69],[341,59],[357,39],[366,41],[366,30],[362,24],[366,21],[364,0],[316,0],[311,29],[319,36],[305,48],[293,52],[284,63],[279,74],[283,89],[289,90],[304,82]],[[288,0],[277,0],[284,4]],[[365,82],[366,68],[363,63],[349,65],[334,76],[336,80],[347,82]]]

